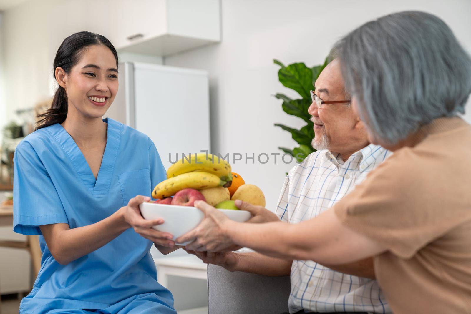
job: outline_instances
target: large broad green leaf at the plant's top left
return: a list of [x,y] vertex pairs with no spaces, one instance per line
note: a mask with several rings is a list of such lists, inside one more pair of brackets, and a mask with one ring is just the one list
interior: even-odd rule
[[278,60],[273,60],[273,62],[281,66],[278,71],[278,79],[285,87],[294,89],[303,98],[310,98],[309,90],[313,89],[312,69],[302,62],[288,66],[284,66]]

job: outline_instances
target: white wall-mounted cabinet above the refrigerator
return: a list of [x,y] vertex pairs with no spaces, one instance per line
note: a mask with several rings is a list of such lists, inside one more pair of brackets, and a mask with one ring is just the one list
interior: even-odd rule
[[168,56],[220,41],[219,0],[100,0],[96,32],[118,51]]

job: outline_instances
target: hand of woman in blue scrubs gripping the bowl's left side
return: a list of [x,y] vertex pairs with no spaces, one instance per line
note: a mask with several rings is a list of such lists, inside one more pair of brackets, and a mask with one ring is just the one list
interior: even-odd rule
[[155,220],[146,220],[141,216],[139,204],[146,201],[150,201],[150,197],[138,195],[130,199],[128,206],[124,206],[120,209],[122,210],[122,217],[124,221],[130,227],[134,228],[136,233],[154,242],[156,245],[173,248],[175,245],[175,242],[171,240],[173,235],[152,229],[152,227],[155,225],[162,225],[164,222],[163,219],[159,218]]

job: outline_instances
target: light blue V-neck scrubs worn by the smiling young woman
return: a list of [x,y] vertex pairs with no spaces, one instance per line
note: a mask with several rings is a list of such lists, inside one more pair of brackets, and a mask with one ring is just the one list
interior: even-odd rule
[[20,313],[176,313],[171,292],[157,283],[153,242],[132,228],[67,265],[57,263],[41,235],[40,225],[72,229],[103,220],[134,196],[150,196],[166,178],[149,137],[104,121],[108,138],[97,179],[60,124],[33,132],[16,148],[13,228],[40,234],[42,251],[41,270]]

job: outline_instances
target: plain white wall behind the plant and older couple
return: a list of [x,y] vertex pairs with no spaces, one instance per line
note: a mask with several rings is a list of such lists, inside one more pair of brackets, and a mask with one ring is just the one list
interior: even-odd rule
[[[164,64],[208,70],[211,86],[211,140],[215,153],[278,153],[294,147],[291,135],[273,126],[301,127],[303,121],[285,114],[277,92],[296,97],[277,79],[276,58],[284,64],[323,62],[334,42],[376,17],[422,10],[440,16],[471,51],[469,0],[221,0],[222,41],[164,58]],[[468,107],[470,107],[468,105]],[[467,113],[471,122],[471,112]],[[258,161],[233,163],[246,183],[259,185],[274,209],[285,172],[292,165]]]

